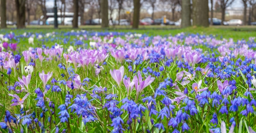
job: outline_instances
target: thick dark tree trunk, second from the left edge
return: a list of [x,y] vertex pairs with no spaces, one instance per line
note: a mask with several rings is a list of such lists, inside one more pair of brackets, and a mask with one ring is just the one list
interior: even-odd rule
[[17,28],[25,28],[26,20],[26,0],[15,0],[16,13],[17,13]]

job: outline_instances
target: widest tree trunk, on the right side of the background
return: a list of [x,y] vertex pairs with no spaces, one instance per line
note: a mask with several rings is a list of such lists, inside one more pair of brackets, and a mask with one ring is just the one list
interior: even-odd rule
[[193,8],[195,8],[193,10],[193,25],[208,27],[209,26],[208,0],[194,0]]

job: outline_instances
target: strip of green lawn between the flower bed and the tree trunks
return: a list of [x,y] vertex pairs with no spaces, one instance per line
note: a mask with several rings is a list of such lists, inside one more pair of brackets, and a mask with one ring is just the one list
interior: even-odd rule
[[[130,26],[115,26],[107,29],[102,29],[100,26],[80,26],[79,29],[89,30],[89,31],[118,31],[118,32],[136,32],[140,34],[148,35],[176,35],[178,33],[199,33],[205,35],[218,35],[217,38],[221,36],[223,38],[233,38],[234,41],[241,39],[248,39],[250,36],[256,36],[256,27],[255,26],[211,26],[208,28],[204,27],[189,27],[189,28],[180,28],[176,26],[140,26],[139,29],[132,29]],[[79,30],[78,29],[78,30]],[[72,30],[71,26],[59,26],[58,29],[54,29],[53,26],[27,26],[27,29],[14,29],[10,27],[9,29],[1,29],[0,33],[14,32],[15,34],[22,34],[25,31],[33,33],[47,33],[47,32],[60,32],[60,31],[70,31]],[[76,29],[75,29],[76,30]]]

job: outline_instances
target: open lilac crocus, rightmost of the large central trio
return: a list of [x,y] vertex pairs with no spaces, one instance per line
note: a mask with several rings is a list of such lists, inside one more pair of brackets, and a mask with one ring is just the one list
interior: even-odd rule
[[149,75],[144,81],[142,81],[142,76],[141,76],[140,71],[138,71],[139,80],[136,75],[133,78],[134,78],[134,81],[139,81],[139,84],[138,84],[138,82],[135,82],[135,89],[137,92],[136,93],[137,96],[139,96],[139,93],[142,92],[144,88],[149,86],[155,80],[155,78],[151,78],[151,75]]

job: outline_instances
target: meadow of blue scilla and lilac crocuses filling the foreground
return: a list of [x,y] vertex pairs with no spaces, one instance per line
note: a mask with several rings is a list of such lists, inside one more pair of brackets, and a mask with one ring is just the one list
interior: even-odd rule
[[0,130],[255,133],[254,40],[0,34]]

